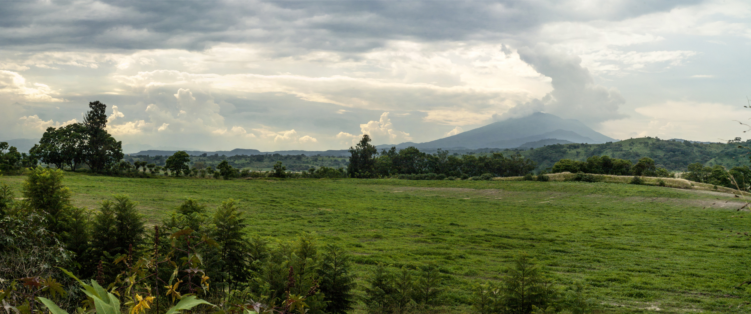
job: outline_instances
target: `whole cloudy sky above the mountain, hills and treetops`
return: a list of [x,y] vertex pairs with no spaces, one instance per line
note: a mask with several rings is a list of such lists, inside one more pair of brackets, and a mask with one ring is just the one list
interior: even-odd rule
[[0,140],[107,104],[126,152],[427,142],[547,112],[746,136],[749,1],[0,1]]

